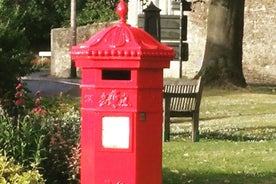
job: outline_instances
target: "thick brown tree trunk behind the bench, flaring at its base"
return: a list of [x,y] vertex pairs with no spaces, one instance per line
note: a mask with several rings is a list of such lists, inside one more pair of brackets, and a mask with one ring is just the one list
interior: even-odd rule
[[205,85],[245,87],[242,40],[245,0],[211,0],[202,68]]

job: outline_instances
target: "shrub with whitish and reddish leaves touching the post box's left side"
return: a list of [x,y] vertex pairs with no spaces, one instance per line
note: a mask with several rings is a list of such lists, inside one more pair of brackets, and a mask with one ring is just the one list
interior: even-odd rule
[[55,98],[56,106],[52,106],[49,101],[47,105],[51,114],[47,121],[51,128],[47,159],[43,160],[41,166],[49,184],[63,181],[79,183],[80,114],[78,106],[69,100]]

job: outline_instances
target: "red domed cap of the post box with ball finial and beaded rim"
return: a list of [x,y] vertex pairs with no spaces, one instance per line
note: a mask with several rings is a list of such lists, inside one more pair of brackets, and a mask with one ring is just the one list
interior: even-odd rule
[[[144,30],[128,25],[125,19],[127,11],[126,3],[121,0],[116,9],[120,17],[119,23],[98,32],[86,42],[72,47],[71,58],[77,65],[78,61],[97,61],[99,64],[99,60],[109,63],[123,60],[126,63],[156,57],[158,58],[156,62],[170,61],[174,58],[173,48],[161,44]],[[98,65],[91,62],[89,66]],[[108,62],[104,63],[108,64]]]

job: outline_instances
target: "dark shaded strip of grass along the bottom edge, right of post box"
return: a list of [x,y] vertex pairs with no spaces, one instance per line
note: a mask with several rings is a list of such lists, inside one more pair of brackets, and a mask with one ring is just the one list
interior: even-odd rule
[[258,175],[227,174],[227,173],[195,173],[170,170],[163,168],[163,184],[274,184],[276,173],[262,173]]

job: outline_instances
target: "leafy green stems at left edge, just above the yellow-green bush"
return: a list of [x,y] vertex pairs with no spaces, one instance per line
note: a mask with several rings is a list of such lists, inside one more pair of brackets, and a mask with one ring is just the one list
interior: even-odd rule
[[42,116],[0,115],[0,149],[2,154],[14,158],[24,166],[38,167],[47,157],[45,140],[50,130]]

